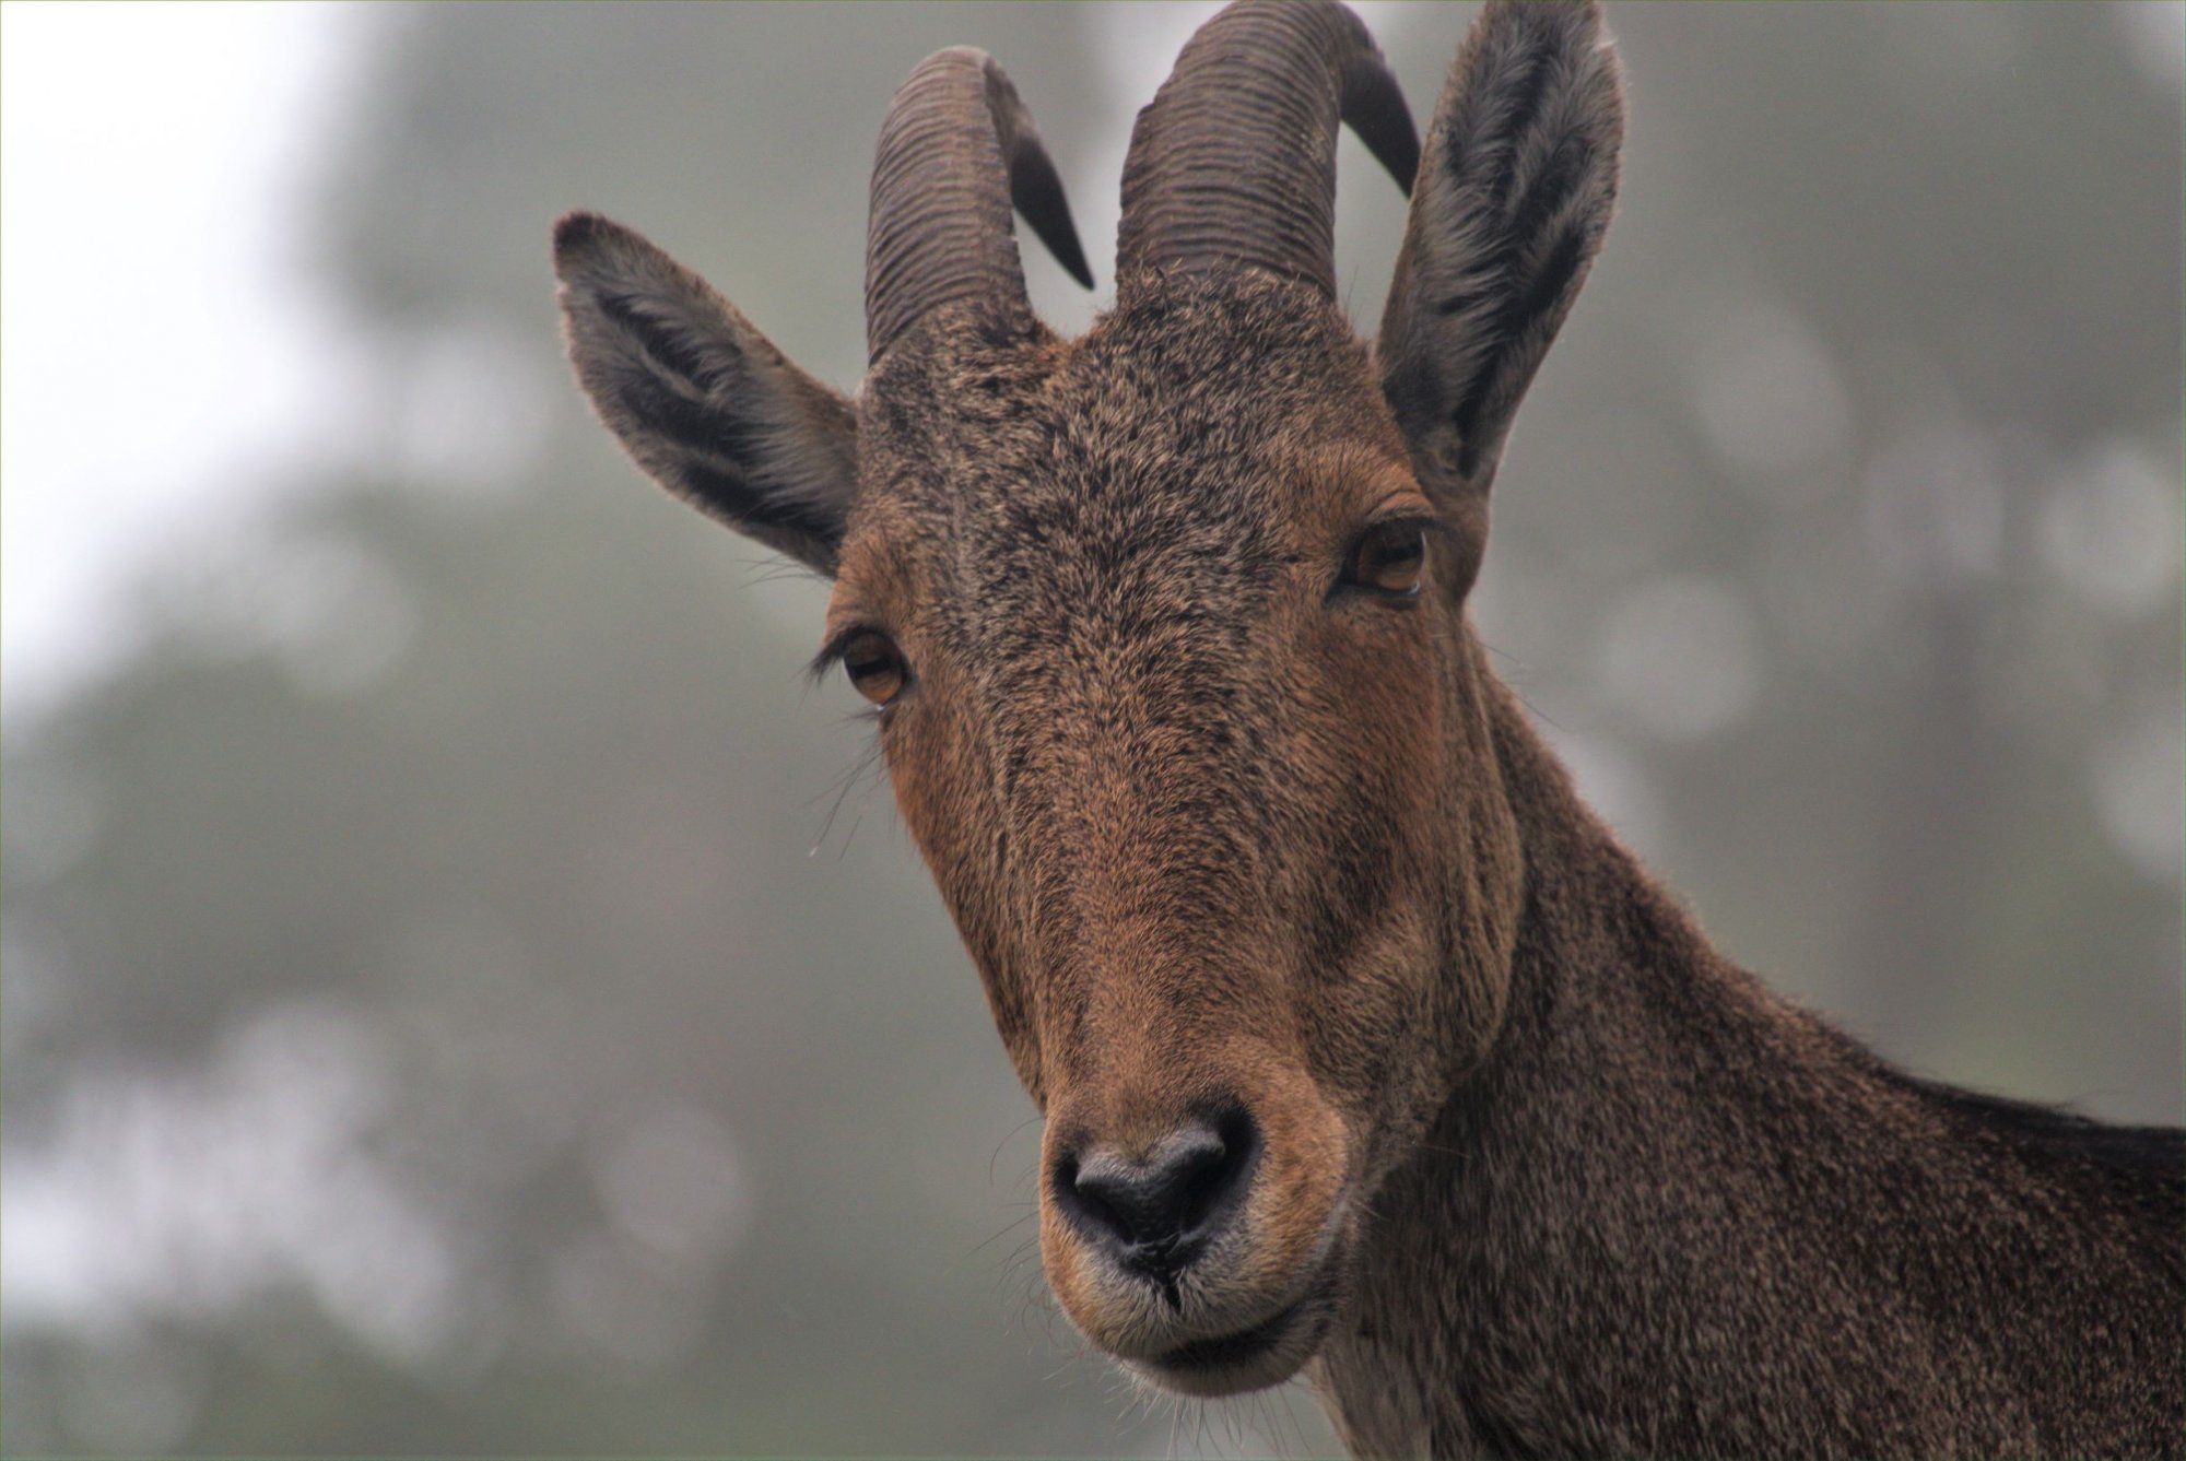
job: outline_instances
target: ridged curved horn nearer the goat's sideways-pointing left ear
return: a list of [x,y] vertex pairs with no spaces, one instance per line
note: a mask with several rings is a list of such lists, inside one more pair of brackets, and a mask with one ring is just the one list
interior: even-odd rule
[[940,304],[992,297],[1032,313],[1010,206],[1086,289],[1093,271],[1062,179],[995,57],[936,50],[896,92],[872,157],[866,352]]

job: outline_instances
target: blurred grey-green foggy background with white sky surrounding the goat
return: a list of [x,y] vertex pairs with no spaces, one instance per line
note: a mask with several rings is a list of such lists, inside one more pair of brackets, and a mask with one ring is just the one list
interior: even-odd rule
[[[1425,116],[1471,7],[1362,9]],[[603,210],[853,385],[872,138],[962,42],[1078,330],[1207,13],[0,11],[0,1448],[1331,1448],[1054,1314],[1032,1107],[800,676],[824,586],[616,453],[546,260]],[[2182,9],[1609,22],[1620,214],[1482,634],[1771,984],[2177,1120]],[[1403,203],[1342,166],[1371,326]]]

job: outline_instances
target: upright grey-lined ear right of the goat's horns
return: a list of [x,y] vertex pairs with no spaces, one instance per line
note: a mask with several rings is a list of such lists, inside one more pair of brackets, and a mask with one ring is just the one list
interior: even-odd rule
[[1489,0],[1434,105],[1375,354],[1471,569],[1511,416],[1609,227],[1622,92],[1591,0]]

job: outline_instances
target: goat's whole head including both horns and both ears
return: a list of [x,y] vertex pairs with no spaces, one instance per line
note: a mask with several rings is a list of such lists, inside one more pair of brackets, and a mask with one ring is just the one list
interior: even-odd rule
[[[1373,346],[1340,122],[1412,195]],[[1591,4],[1491,0],[1425,147],[1351,11],[1233,4],[1139,114],[1115,306],[1060,339],[1012,238],[1014,206],[1091,282],[1056,171],[944,50],[881,129],[855,400],[638,234],[555,230],[606,424],[835,580],[820,661],[1047,1118],[1049,1284],[1163,1387],[1316,1352],[1377,1181],[1495,1039],[1519,857],[1465,599],[1620,136]]]

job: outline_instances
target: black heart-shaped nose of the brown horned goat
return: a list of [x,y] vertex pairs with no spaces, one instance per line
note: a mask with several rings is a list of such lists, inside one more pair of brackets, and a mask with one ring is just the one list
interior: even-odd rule
[[1235,1216],[1259,1159],[1259,1129],[1224,1107],[1167,1133],[1139,1159],[1082,1144],[1056,1159],[1054,1201],[1126,1269],[1172,1282]]

